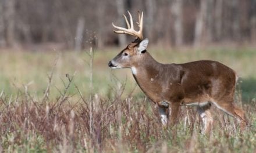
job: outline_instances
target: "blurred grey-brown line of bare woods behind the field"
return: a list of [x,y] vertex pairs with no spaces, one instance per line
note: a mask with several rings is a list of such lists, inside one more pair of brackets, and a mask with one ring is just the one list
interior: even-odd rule
[[256,0],[0,0],[0,47],[44,43],[80,50],[125,45],[112,22],[144,12],[144,37],[169,46],[256,42]]

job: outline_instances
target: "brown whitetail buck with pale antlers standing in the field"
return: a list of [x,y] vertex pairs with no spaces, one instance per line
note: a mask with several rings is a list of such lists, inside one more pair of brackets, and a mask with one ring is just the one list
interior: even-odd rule
[[175,123],[180,105],[196,105],[204,126],[209,133],[213,118],[211,104],[239,119],[241,129],[247,125],[244,111],[234,105],[236,72],[218,61],[193,61],[184,64],[162,64],[154,60],[146,48],[148,39],[143,39],[143,12],[138,13],[138,31],[134,30],[130,12],[127,28],[113,27],[117,34],[137,37],[108,65],[111,68],[131,68],[133,77],[141,90],[158,105],[163,125],[170,111],[170,122]]

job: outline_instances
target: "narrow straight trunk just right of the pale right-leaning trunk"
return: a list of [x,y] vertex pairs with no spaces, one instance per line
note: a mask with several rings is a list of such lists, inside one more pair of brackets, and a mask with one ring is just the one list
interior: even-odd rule
[[216,0],[215,5],[215,39],[219,41],[222,38],[222,8],[223,0]]

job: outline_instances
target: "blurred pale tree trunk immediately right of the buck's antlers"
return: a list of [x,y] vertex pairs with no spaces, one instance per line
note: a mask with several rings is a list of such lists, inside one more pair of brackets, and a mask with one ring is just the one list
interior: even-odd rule
[[155,12],[155,0],[148,0],[145,2],[147,8],[147,21],[145,23],[145,28],[147,30],[148,39],[153,40],[154,32],[153,32],[153,25],[154,25],[154,12]]

